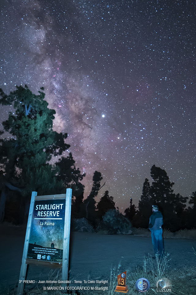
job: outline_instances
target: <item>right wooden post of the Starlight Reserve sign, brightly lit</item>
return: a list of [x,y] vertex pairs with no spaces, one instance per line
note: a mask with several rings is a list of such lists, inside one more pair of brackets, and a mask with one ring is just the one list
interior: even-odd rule
[[[71,221],[71,194],[72,189],[66,189],[65,204],[65,227],[63,239],[63,256],[62,256],[62,281],[68,280],[68,264],[69,264],[69,244],[70,244],[70,221]],[[67,284],[62,284],[67,286]]]

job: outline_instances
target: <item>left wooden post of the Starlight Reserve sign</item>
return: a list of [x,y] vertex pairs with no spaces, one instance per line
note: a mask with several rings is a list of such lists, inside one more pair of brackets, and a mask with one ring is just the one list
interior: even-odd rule
[[24,287],[25,287],[25,283],[23,283],[23,281],[26,278],[26,272],[27,272],[26,258],[27,258],[28,241],[29,241],[31,222],[32,222],[33,206],[34,206],[34,201],[35,201],[36,195],[37,195],[37,192],[32,191],[31,203],[30,203],[29,214],[28,214],[27,229],[26,229],[26,235],[25,235],[25,243],[24,243],[24,249],[23,249],[23,254],[22,254],[21,271],[20,271],[18,288],[17,288],[17,295],[22,295],[23,291],[24,291]]

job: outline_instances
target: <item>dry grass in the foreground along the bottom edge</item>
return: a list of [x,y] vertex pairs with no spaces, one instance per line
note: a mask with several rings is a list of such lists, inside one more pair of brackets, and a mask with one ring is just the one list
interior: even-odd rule
[[[193,254],[196,255],[196,251],[193,247]],[[195,256],[193,255],[193,265],[195,265]],[[168,262],[171,259],[169,259],[169,254],[166,254],[162,259],[159,259],[156,255],[156,259],[154,260],[151,255],[148,254],[148,256],[144,257],[143,260],[143,267],[136,267],[135,270],[126,269],[127,271],[127,277],[126,277],[126,285],[128,285],[128,294],[129,295],[135,295],[137,294],[135,283],[139,278],[146,278],[150,282],[150,289],[146,292],[146,294],[153,295],[157,294],[157,287],[156,283],[161,278],[166,278],[168,282],[170,283],[169,288],[171,288],[171,292],[168,292],[168,294],[173,295],[195,295],[195,285],[196,285],[196,266],[187,267],[182,266],[180,269],[169,269]],[[111,272],[110,272],[110,280],[108,286],[108,290],[102,291],[102,290],[87,290],[83,292],[77,292],[74,291],[69,292],[71,295],[118,295],[117,292],[115,292],[116,285],[117,285],[117,275],[125,271],[125,269],[122,269],[122,265],[119,262],[118,266],[112,267],[111,266]],[[59,277],[59,273],[50,273],[49,276],[51,280],[57,280],[61,279]],[[48,284],[48,286],[51,286],[53,284]],[[99,286],[97,284],[97,286]],[[100,284],[101,286],[101,284]],[[105,285],[106,286],[106,285]],[[17,290],[14,288],[14,290],[7,290],[6,293],[2,293],[1,295],[16,295]],[[64,295],[67,293],[64,293],[62,291],[43,291],[42,288],[39,288],[37,286],[36,288],[33,288],[31,290],[25,289],[24,295]]]

